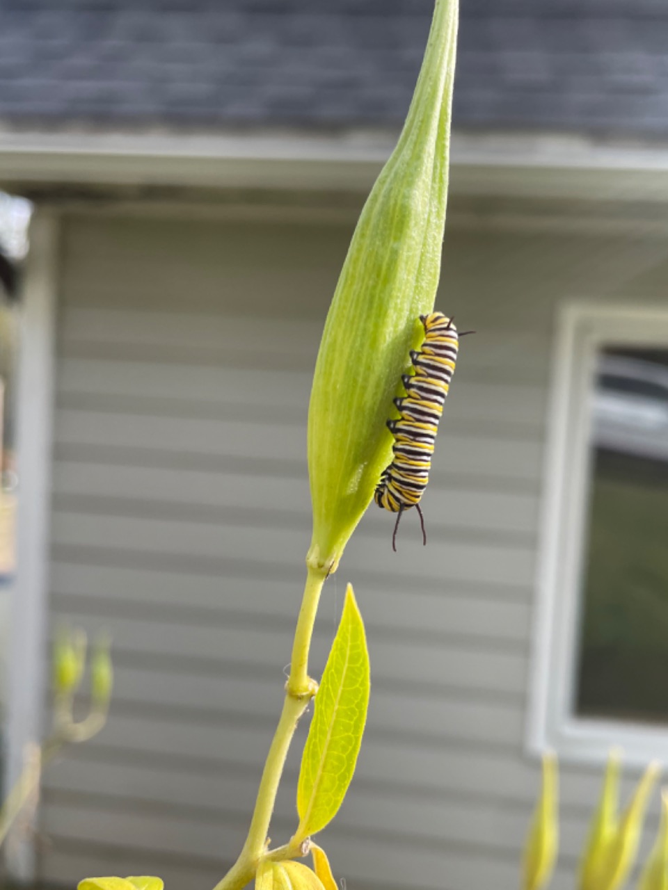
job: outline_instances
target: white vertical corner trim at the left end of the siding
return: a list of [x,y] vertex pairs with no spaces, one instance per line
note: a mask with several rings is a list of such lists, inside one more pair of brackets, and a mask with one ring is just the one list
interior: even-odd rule
[[[22,287],[17,398],[17,577],[12,587],[5,788],[20,775],[29,742],[42,739],[53,441],[53,368],[59,225],[38,212],[30,223]],[[29,841],[8,848],[12,877],[29,881]]]

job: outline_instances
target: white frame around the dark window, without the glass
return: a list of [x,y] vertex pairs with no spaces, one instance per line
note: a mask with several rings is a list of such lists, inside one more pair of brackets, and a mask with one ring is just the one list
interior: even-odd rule
[[599,763],[613,746],[631,763],[668,759],[668,727],[574,716],[577,627],[591,481],[590,400],[602,344],[668,348],[668,306],[572,303],[558,312],[545,459],[527,747]]

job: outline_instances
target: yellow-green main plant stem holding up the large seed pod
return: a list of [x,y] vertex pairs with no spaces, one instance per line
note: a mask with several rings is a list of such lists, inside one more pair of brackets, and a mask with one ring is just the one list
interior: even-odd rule
[[216,884],[214,890],[241,890],[254,877],[257,863],[265,853],[269,821],[272,818],[273,805],[276,801],[276,793],[281,781],[285,758],[288,756],[290,742],[297,729],[299,718],[304,714],[309,701],[314,697],[318,688],[318,684],[308,676],[308,653],[311,648],[322,585],[326,577],[325,570],[309,565],[304,596],[295,629],[295,639],[292,644],[292,661],[288,682],[285,684],[285,700],[281,718],[276,727],[260,780],[260,787],[257,790],[257,800],[248,829],[248,837],[239,859],[224,878]]

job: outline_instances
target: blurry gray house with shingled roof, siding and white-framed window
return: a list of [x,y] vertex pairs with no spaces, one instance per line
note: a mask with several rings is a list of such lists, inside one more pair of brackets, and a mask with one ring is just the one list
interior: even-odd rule
[[[108,726],[46,773],[49,840],[23,851],[24,877],[156,873],[194,890],[240,849],[303,583],[314,357],[431,9],[4,11],[0,185],[36,207],[10,775],[44,723],[50,628],[109,628],[117,671]],[[393,554],[391,520],[371,507],[315,643],[317,671],[352,581],[370,720],[322,844],[358,890],[516,887],[547,746],[562,760],[553,886],[572,886],[607,748],[623,744],[631,773],[668,751],[656,696],[600,682],[608,667],[633,675],[640,614],[650,667],[665,651],[656,546],[638,549],[632,583],[628,569],[666,510],[649,433],[629,442],[632,417],[663,429],[668,10],[462,0],[461,13],[437,307],[477,334],[439,435],[429,543],[407,518]],[[630,513],[643,460],[652,506],[642,495]],[[620,515],[623,533],[606,525]],[[601,540],[617,543],[601,556]],[[626,579],[614,609],[590,596],[606,592],[608,555],[607,581]],[[298,741],[275,840],[295,824]]]

